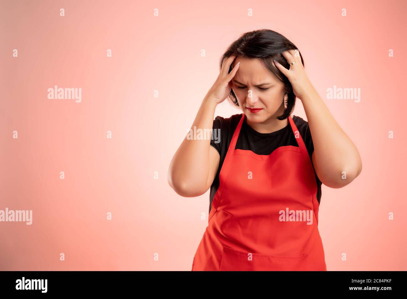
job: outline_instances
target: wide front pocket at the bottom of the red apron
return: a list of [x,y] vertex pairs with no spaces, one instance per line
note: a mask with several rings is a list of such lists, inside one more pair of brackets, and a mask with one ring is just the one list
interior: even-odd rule
[[307,271],[308,253],[298,256],[265,255],[223,246],[220,271]]

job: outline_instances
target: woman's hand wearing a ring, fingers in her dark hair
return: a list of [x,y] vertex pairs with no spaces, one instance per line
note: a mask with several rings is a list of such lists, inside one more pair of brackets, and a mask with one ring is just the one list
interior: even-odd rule
[[298,50],[288,50],[282,52],[282,55],[287,59],[290,64],[295,61],[295,64],[290,66],[287,70],[284,66],[279,64],[274,60],[275,66],[283,73],[290,81],[291,86],[293,86],[293,92],[296,97],[302,99],[304,95],[315,90],[314,86],[309,81],[308,76],[305,73],[304,66],[301,62],[300,52]]

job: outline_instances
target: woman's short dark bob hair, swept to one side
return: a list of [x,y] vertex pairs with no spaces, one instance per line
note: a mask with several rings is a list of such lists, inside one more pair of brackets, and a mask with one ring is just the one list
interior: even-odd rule
[[[250,32],[243,33],[238,40],[234,41],[226,52],[222,55],[220,60],[220,68],[223,61],[232,55],[245,58],[260,58],[260,62],[270,71],[274,77],[284,84],[284,90],[287,97],[284,96],[284,113],[277,118],[280,120],[286,119],[291,115],[295,106],[295,94],[288,78],[276,68],[271,61],[274,59],[282,66],[289,69],[287,59],[281,54],[287,50],[298,49],[292,42],[287,40],[286,37],[280,33],[269,29],[258,29]],[[304,60],[300,53],[302,65],[305,67]],[[232,64],[230,65],[229,72],[232,71]],[[239,107],[236,95],[233,88],[230,90],[228,96],[234,105]],[[287,99],[286,99],[287,98]]]

